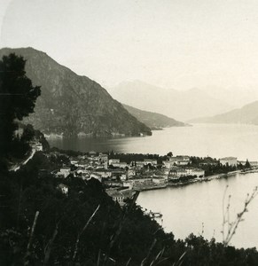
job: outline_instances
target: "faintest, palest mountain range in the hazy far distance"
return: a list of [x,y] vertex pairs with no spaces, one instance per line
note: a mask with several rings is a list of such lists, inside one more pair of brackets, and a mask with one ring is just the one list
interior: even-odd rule
[[180,121],[230,111],[232,106],[199,89],[168,90],[145,82],[121,82],[108,90],[113,98],[136,108],[174,117]]

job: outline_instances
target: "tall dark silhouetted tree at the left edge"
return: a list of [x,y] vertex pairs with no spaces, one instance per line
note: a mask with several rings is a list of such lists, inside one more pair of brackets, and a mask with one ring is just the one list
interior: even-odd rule
[[6,168],[14,152],[15,156],[26,153],[19,151],[17,144],[22,137],[28,141],[28,136],[17,137],[15,132],[18,121],[34,112],[35,100],[41,93],[40,87],[33,86],[27,77],[25,64],[26,60],[14,53],[0,60],[0,168]]

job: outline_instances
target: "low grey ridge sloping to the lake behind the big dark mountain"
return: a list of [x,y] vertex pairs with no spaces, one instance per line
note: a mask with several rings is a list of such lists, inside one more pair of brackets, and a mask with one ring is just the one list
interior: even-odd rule
[[175,119],[160,113],[146,112],[127,105],[123,106],[128,110],[129,113],[135,116],[138,121],[143,122],[151,129],[187,126],[187,124],[182,121],[176,121]]

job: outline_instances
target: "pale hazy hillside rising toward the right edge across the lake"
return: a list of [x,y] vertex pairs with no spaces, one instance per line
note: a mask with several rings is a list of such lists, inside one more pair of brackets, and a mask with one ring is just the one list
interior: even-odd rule
[[221,113],[212,117],[202,117],[191,120],[192,122],[207,123],[245,123],[258,125],[258,101],[234,109],[231,112]]

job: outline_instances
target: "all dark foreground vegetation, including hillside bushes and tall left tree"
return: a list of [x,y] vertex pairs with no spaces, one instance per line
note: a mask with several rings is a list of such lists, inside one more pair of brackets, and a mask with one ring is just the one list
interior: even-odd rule
[[[199,236],[176,240],[135,201],[121,208],[94,179],[43,175],[63,158],[42,152],[24,160],[35,132],[17,120],[40,94],[15,55],[0,61],[0,265],[258,265],[255,248],[237,249]],[[41,135],[39,134],[40,138]],[[66,188],[66,190],[63,190]],[[176,214],[175,214],[176,215]]]

